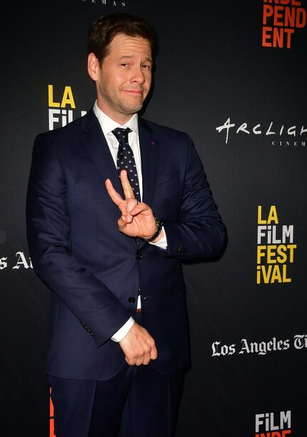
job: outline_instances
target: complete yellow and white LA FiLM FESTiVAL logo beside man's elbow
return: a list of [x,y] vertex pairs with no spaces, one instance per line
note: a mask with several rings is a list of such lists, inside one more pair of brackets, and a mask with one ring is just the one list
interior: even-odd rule
[[290,266],[296,247],[293,224],[279,223],[276,206],[266,212],[258,206],[256,282],[291,282]]

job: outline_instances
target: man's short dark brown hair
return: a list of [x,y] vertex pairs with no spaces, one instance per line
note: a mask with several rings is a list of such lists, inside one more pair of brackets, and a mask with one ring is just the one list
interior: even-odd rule
[[131,14],[109,14],[101,16],[89,28],[88,54],[94,53],[102,64],[109,53],[109,44],[118,34],[141,36],[151,46],[151,56],[155,59],[158,52],[156,31],[144,18]]

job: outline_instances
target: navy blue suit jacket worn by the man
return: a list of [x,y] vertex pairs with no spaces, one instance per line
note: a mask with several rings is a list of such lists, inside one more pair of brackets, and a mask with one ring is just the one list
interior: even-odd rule
[[47,373],[108,379],[124,363],[111,336],[136,313],[156,341],[151,365],[188,365],[181,259],[221,248],[223,224],[187,134],[139,119],[143,201],[163,219],[168,248],[119,232],[119,209],[104,181],[119,176],[94,111],[37,136],[27,196],[29,250],[51,289]]

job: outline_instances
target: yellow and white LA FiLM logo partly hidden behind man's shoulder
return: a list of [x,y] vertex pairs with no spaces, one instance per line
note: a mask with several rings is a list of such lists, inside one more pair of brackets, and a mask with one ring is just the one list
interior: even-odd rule
[[55,89],[54,85],[48,85],[48,106],[49,131],[66,126],[75,118],[86,114],[86,111],[76,110],[74,94],[68,85],[64,89]]

